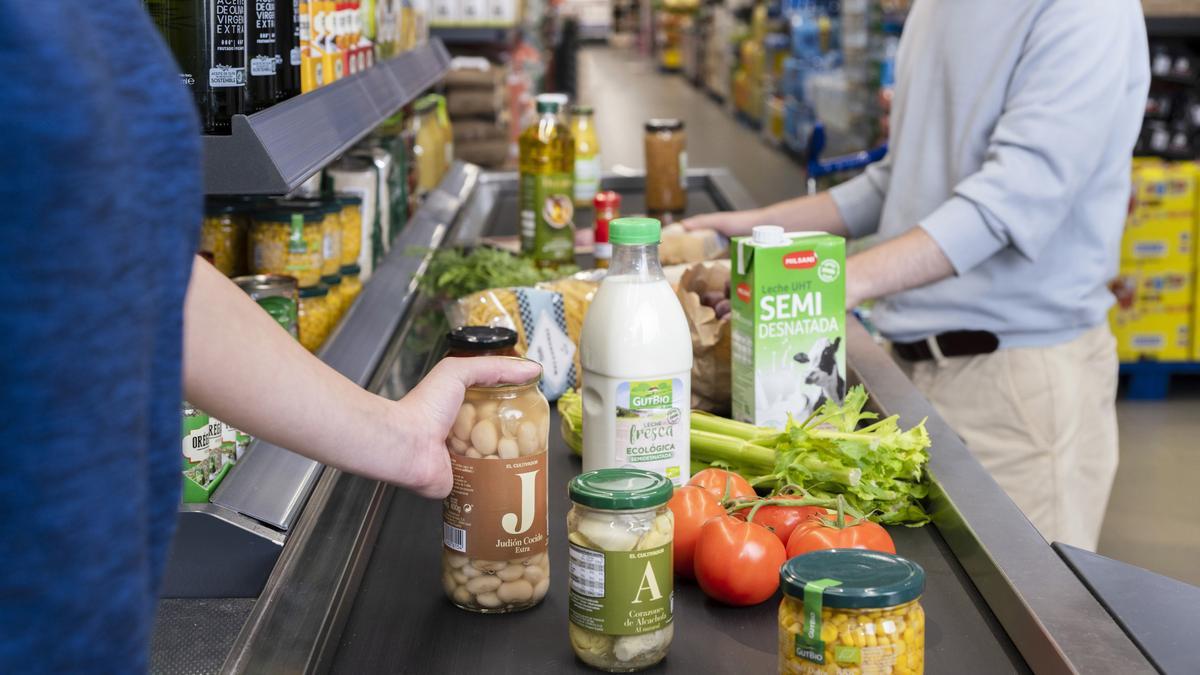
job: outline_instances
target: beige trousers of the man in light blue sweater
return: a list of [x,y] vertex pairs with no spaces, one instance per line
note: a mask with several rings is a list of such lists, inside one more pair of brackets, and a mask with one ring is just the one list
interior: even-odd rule
[[1117,470],[1106,324],[1052,347],[896,360],[1046,540],[1096,550]]

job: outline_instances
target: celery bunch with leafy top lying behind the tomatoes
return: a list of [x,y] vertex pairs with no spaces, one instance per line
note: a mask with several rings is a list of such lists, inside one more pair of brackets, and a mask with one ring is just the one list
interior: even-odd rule
[[[888,525],[924,525],[920,504],[930,441],[925,422],[904,431],[896,416],[878,419],[866,406],[866,392],[852,388],[841,405],[826,402],[787,429],[754,426],[694,411],[692,473],[715,466],[736,471],[756,486],[790,492],[799,488],[816,498],[842,495],[847,506]],[[563,436],[578,453],[583,408],[578,394],[558,400]]]

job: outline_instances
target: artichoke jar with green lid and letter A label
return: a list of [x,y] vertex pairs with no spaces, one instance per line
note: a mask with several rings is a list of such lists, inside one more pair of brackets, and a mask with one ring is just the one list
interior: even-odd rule
[[568,632],[593,668],[641,670],[671,649],[672,490],[670,479],[640,468],[589,471],[570,483]]

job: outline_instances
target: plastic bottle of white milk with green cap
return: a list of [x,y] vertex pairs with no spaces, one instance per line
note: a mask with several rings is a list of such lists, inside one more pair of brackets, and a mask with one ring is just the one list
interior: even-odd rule
[[612,263],[580,340],[583,471],[636,467],[690,477],[691,331],[662,275],[654,219],[608,225]]

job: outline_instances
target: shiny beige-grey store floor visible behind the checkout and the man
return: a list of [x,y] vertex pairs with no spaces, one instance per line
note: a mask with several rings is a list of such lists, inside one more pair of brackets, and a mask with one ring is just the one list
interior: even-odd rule
[[[684,78],[626,49],[587,48],[578,64],[580,96],[595,107],[605,171],[643,168],[642,123],[676,117],[688,125],[692,168],[728,168],[760,204],[803,193],[798,162]],[[1196,383],[1175,387],[1168,401],[1118,404],[1121,466],[1099,552],[1200,585],[1198,406]]]

